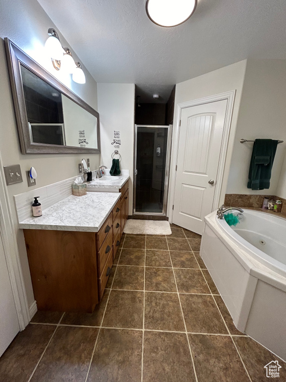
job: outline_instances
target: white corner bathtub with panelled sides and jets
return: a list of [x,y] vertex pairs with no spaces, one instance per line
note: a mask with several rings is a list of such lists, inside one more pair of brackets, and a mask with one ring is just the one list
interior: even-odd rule
[[286,360],[286,219],[245,209],[230,227],[213,212],[200,255],[237,329]]

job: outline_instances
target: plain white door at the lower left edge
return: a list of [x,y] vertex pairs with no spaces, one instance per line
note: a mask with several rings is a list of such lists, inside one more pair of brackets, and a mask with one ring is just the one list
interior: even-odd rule
[[0,356],[20,330],[0,235]]

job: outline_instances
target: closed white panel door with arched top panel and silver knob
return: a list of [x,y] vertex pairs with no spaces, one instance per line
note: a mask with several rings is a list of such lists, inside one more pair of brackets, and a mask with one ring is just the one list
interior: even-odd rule
[[173,223],[199,234],[213,210],[226,106],[223,99],[182,109]]

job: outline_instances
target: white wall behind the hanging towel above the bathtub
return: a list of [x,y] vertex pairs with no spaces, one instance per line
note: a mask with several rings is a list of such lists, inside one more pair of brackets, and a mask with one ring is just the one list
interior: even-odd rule
[[286,197],[286,162],[281,172],[286,143],[277,147],[270,189],[252,191],[247,189],[247,181],[253,143],[241,144],[241,138],[270,138],[286,142],[286,60],[247,60],[226,191],[241,194],[269,193],[281,197],[284,194]]

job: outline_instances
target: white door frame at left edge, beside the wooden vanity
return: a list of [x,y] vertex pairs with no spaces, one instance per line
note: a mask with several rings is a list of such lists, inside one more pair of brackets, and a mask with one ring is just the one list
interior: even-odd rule
[[19,321],[20,330],[24,330],[30,321],[29,305],[24,285],[18,244],[13,230],[11,218],[11,207],[7,194],[6,184],[4,182],[4,173],[2,158],[0,155],[0,231],[12,287],[16,312]]

